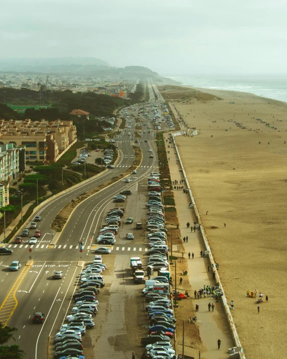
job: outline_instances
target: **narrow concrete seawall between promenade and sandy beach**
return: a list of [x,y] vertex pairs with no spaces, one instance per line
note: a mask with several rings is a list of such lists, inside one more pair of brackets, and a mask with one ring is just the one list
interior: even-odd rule
[[[214,261],[213,259],[213,256],[212,256],[212,252],[211,252],[211,249],[209,247],[209,244],[208,244],[208,240],[207,240],[207,237],[206,237],[206,234],[205,234],[205,231],[204,231],[204,227],[203,227],[203,224],[201,222],[201,218],[200,218],[200,215],[199,215],[199,212],[198,212],[198,209],[197,209],[197,206],[196,206],[196,203],[195,203],[195,200],[193,198],[193,194],[192,194],[192,191],[191,191],[191,188],[190,188],[190,185],[189,185],[189,182],[188,182],[188,178],[186,176],[186,173],[185,173],[185,170],[184,170],[184,166],[183,166],[183,163],[182,163],[182,160],[181,160],[181,157],[180,157],[180,154],[179,154],[179,151],[178,151],[178,148],[177,148],[177,145],[176,145],[176,141],[175,141],[175,138],[174,136],[172,136],[173,138],[173,143],[174,143],[174,146],[175,146],[175,150],[176,150],[176,153],[177,153],[177,156],[178,156],[178,160],[179,160],[179,163],[180,163],[180,166],[181,166],[181,170],[183,172],[183,175],[184,175],[184,179],[186,181],[186,186],[187,186],[187,189],[188,189],[188,192],[189,192],[189,195],[190,195],[190,198],[191,198],[191,203],[193,204],[193,209],[195,211],[195,215],[197,217],[197,221],[199,223],[199,230],[201,232],[201,236],[202,236],[202,239],[203,239],[203,242],[204,242],[204,245],[205,245],[205,248],[206,248],[206,251],[208,251],[208,257],[209,257],[209,261],[210,261],[210,264],[211,264],[211,268],[216,268],[216,262]],[[232,336],[233,336],[233,339],[234,339],[234,344],[236,347],[238,348],[242,348],[241,346],[241,343],[240,343],[240,340],[239,340],[239,337],[238,337],[238,334],[237,334],[237,330],[235,328],[235,324],[233,322],[233,317],[232,317],[232,314],[230,312],[230,308],[226,302],[226,299],[225,299],[225,293],[224,293],[224,289],[222,287],[222,284],[221,284],[221,281],[220,281],[220,277],[219,277],[219,274],[218,274],[218,271],[216,270],[215,271],[215,278],[216,278],[216,281],[219,283],[220,285],[220,288],[223,292],[223,296],[221,296],[221,300],[222,300],[222,303],[223,303],[223,306],[224,306],[224,310],[225,310],[225,314],[227,316],[227,320],[228,320],[228,324],[229,324],[229,327],[230,327],[230,330],[232,332]],[[240,353],[240,357],[244,358],[245,359],[245,355],[243,353],[243,349],[241,350],[241,353]]]

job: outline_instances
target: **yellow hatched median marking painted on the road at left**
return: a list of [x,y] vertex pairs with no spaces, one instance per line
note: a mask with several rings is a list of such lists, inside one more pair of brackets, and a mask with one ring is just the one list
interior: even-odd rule
[[9,319],[12,317],[18,305],[18,301],[16,299],[16,292],[30,268],[30,266],[27,266],[23,269],[17,281],[14,283],[13,287],[11,288],[10,292],[8,293],[7,297],[5,298],[4,302],[0,307],[0,318],[7,318],[6,320],[1,320],[4,327],[7,325]]

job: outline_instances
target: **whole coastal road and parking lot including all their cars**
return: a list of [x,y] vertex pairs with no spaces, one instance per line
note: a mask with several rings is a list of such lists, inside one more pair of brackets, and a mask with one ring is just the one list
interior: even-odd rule
[[[108,168],[107,154],[105,171],[40,206],[0,246],[0,321],[18,328],[26,358],[126,358],[141,355],[141,345],[147,356],[176,357],[155,142],[157,131],[173,126],[153,89],[149,81],[150,102],[120,110],[127,128],[113,139],[116,164]],[[142,153],[137,169],[81,202],[60,233],[53,230],[67,203],[129,168],[134,145]]]

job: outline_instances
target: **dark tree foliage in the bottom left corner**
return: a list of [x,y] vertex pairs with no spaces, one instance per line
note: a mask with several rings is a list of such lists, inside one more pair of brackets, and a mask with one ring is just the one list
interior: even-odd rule
[[[0,359],[23,359],[25,352],[20,349],[19,345],[3,345],[18,331],[15,327],[4,326],[0,322]],[[14,339],[15,340],[15,339]]]

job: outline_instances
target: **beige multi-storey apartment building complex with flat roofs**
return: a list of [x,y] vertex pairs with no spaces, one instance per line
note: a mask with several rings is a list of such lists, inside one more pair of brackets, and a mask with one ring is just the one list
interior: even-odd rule
[[25,146],[26,161],[57,162],[76,141],[77,132],[72,120],[0,119],[0,145]]

